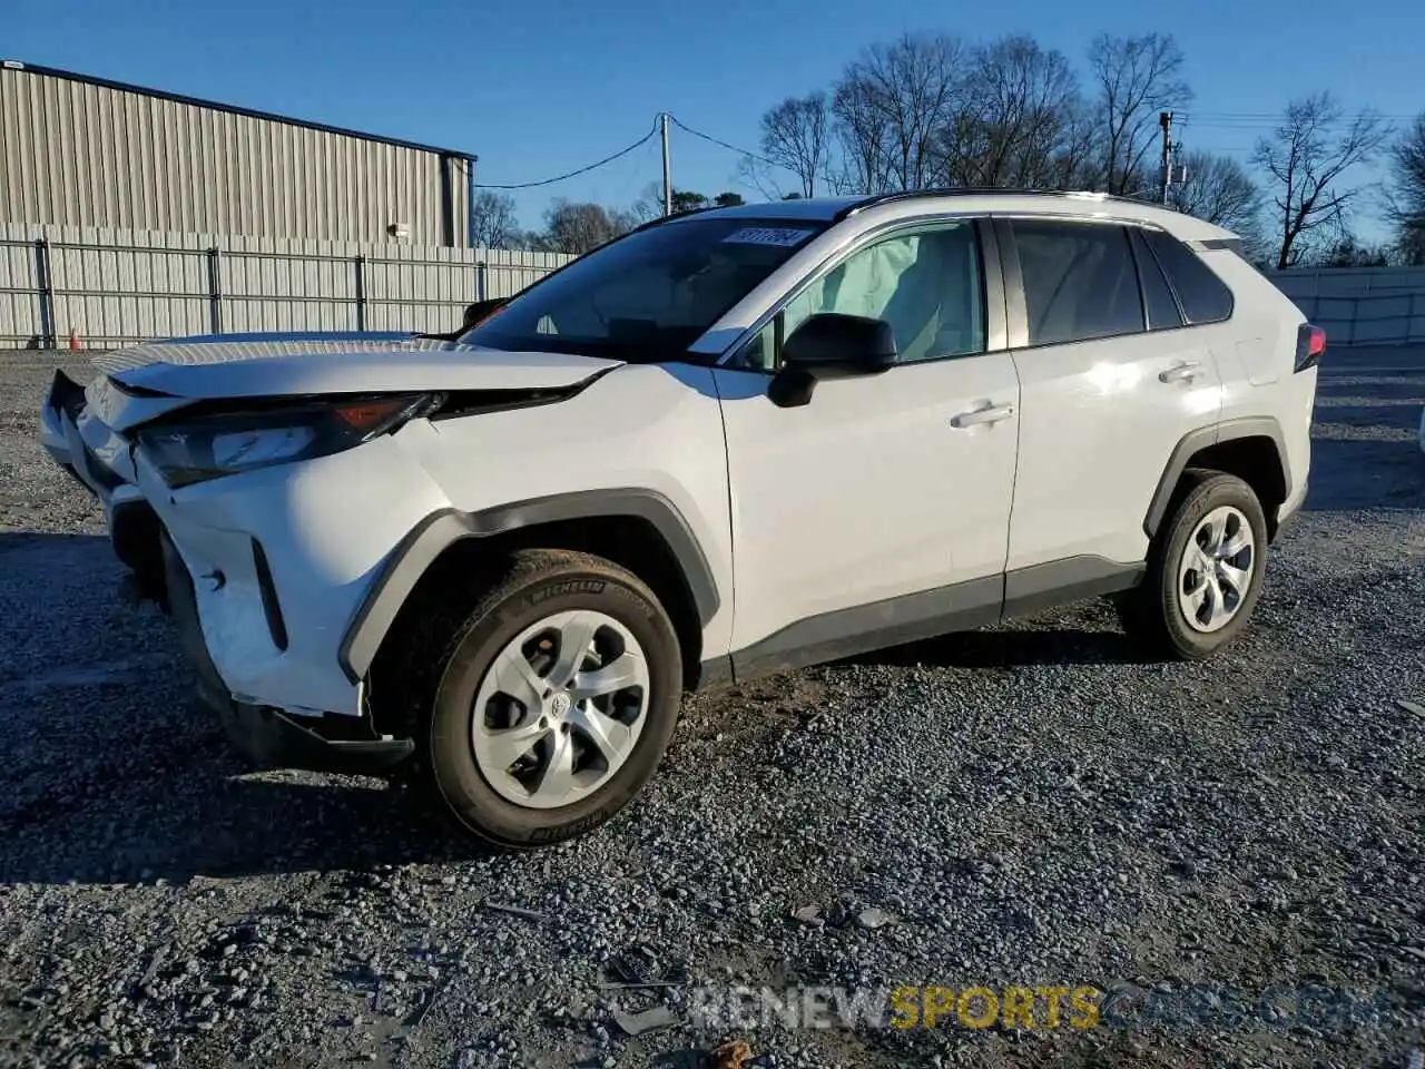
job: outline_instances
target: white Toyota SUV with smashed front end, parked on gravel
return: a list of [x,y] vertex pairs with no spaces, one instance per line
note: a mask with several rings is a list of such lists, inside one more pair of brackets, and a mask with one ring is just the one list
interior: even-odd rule
[[140,345],[41,433],[249,754],[530,847],[640,791],[684,690],[1100,594],[1218,650],[1324,346],[1159,207],[804,200],[646,225],[459,342]]

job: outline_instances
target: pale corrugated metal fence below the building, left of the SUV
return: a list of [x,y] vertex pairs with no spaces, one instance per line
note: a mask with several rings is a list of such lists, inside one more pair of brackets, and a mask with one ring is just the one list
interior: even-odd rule
[[[43,244],[41,244],[43,238]],[[242,331],[453,331],[573,257],[0,222],[0,348]]]

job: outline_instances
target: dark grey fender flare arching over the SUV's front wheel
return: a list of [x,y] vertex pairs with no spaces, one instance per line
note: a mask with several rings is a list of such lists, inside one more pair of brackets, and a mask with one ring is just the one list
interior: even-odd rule
[[703,546],[677,506],[657,490],[621,487],[576,490],[533,497],[480,512],[440,509],[430,513],[386,556],[356,607],[338,651],[346,678],[359,683],[370,668],[396,613],[435,560],[462,539],[490,537],[520,527],[594,516],[634,516],[654,526],[673,550],[704,626],[717,614],[721,594]]

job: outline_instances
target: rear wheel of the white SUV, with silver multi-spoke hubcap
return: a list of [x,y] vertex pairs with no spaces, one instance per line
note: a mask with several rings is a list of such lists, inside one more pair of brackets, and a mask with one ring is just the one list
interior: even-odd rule
[[1247,626],[1265,569],[1267,522],[1251,486],[1190,470],[1141,586],[1119,600],[1124,629],[1154,651],[1207,660]]

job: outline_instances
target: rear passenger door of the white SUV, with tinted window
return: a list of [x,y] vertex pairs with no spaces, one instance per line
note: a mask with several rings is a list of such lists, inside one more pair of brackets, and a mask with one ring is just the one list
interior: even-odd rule
[[1216,422],[1221,379],[1137,228],[1015,218],[996,229],[1022,389],[1013,601],[1016,569],[1067,562],[1057,577],[1082,582],[1144,559],[1168,456]]

